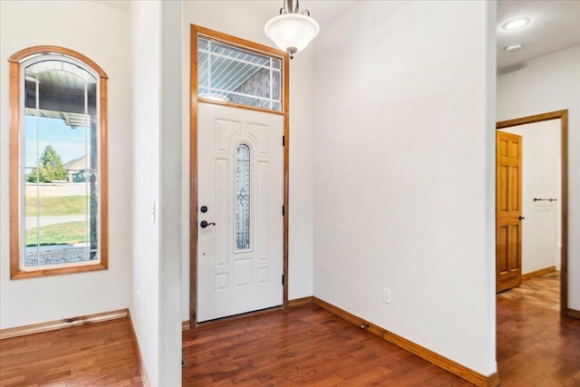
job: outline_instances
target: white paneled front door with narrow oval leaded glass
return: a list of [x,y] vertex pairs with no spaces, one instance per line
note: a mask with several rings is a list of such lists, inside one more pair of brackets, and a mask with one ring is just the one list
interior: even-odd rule
[[282,115],[198,104],[198,323],[283,304],[283,134]]

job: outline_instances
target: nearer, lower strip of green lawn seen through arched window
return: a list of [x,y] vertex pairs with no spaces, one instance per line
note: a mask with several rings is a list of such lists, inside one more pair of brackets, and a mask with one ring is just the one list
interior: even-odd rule
[[26,230],[26,246],[63,245],[84,243],[87,237],[86,222],[68,222],[40,227],[40,236],[36,238],[37,228]]

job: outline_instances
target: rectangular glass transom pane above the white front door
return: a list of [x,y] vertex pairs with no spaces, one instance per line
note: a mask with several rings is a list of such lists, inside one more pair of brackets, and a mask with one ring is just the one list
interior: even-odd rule
[[198,37],[198,98],[282,111],[278,58]]

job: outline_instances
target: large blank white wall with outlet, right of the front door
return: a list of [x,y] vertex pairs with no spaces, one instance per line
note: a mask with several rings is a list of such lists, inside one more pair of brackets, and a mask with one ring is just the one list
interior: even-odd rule
[[494,30],[491,2],[360,1],[314,58],[314,295],[485,375]]

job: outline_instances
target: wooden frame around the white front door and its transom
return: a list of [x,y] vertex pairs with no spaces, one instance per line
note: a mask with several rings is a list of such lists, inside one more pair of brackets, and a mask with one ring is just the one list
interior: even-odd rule
[[[269,111],[252,108],[229,102],[215,102],[198,99],[198,36],[205,36],[212,41],[237,46],[247,51],[275,56],[282,60],[282,111]],[[268,47],[263,44],[247,41],[218,31],[210,30],[195,24],[190,25],[190,80],[189,80],[189,327],[197,324],[197,294],[198,294],[198,101],[231,106],[239,109],[265,111],[279,114],[284,117],[284,226],[283,226],[283,274],[284,287],[282,307],[288,307],[288,183],[289,183],[289,155],[290,155],[290,57],[287,53]]]

